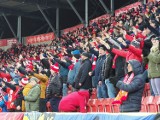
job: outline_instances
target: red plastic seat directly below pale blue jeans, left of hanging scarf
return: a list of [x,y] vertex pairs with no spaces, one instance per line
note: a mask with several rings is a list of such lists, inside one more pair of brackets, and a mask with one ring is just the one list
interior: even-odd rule
[[103,100],[104,112],[112,113],[112,102],[114,99],[112,98],[105,98]]

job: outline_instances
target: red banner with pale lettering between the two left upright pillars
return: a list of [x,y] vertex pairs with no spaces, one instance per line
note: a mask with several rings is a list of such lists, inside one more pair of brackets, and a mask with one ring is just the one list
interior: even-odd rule
[[34,44],[39,42],[46,42],[51,41],[55,39],[55,35],[53,32],[46,33],[46,34],[40,34],[35,36],[28,36],[26,37],[26,44]]

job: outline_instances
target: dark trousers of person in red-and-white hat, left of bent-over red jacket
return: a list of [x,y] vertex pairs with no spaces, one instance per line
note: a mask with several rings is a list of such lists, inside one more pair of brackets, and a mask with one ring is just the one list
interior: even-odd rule
[[59,106],[60,100],[61,100],[61,97],[56,97],[56,96],[52,97],[49,100],[49,102],[51,104],[51,110],[52,110],[52,112],[59,112],[58,106]]

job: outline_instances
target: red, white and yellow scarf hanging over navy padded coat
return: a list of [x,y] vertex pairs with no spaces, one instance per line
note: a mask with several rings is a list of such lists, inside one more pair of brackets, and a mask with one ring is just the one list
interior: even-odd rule
[[[132,82],[133,78],[134,78],[134,73],[132,73],[130,76],[127,74],[124,77],[123,82],[125,84],[130,84]],[[112,102],[112,104],[122,104],[123,101],[127,100],[127,97],[128,97],[128,92],[126,92],[124,90],[120,90],[119,93],[117,94],[116,98]]]

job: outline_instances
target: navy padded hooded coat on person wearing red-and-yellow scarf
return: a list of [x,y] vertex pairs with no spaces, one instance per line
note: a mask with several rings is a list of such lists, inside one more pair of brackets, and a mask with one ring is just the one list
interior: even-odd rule
[[141,99],[145,86],[145,80],[147,78],[147,72],[142,74],[141,63],[137,60],[128,61],[133,69],[134,78],[130,84],[125,84],[122,80],[117,82],[117,87],[121,90],[128,92],[128,97],[126,101],[120,106],[121,112],[134,112],[141,110]]

